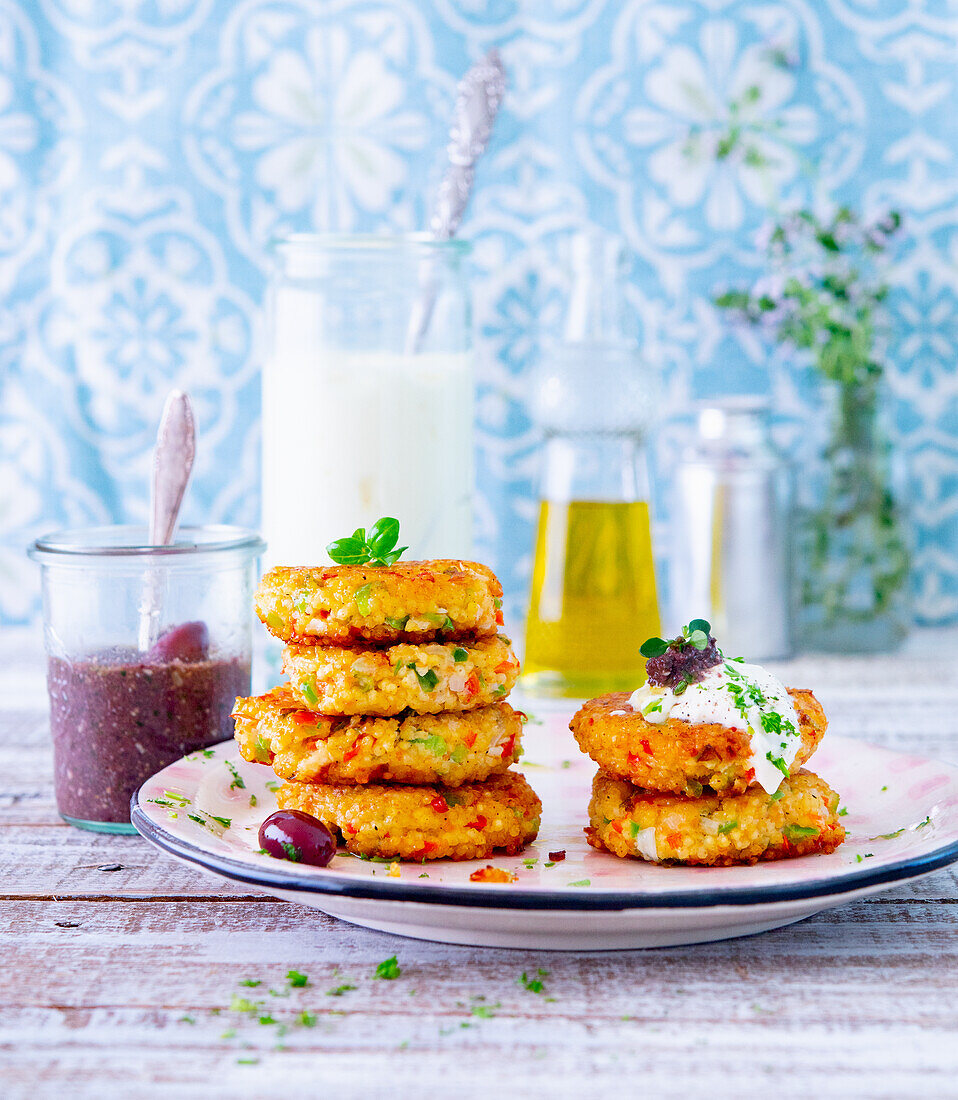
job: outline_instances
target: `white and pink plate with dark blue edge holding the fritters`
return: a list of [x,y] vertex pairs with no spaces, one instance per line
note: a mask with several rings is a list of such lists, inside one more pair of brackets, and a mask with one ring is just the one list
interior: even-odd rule
[[[419,939],[539,950],[749,935],[958,861],[958,768],[830,734],[811,767],[847,809],[848,839],[832,855],[693,868],[594,851],[583,826],[595,766],[569,733],[571,713],[553,712],[526,727],[522,770],[542,799],[542,827],[521,855],[492,860],[516,875],[511,883],[470,881],[489,860],[403,864],[394,878],[384,864],[343,849],[326,868],[260,854],[258,827],[276,809],[278,782],[268,768],[243,761],[233,741],[147,780],[133,798],[132,820],[177,859],[353,924]],[[565,858],[551,859],[555,851]]]

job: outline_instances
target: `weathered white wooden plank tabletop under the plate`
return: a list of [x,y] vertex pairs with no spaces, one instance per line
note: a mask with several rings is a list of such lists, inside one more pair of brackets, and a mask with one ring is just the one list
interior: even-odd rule
[[[60,823],[27,650],[0,647],[4,1098],[958,1096],[954,870],[693,947],[365,932]],[[804,660],[789,679],[837,733],[958,761],[950,656]],[[400,977],[374,979],[392,956]]]

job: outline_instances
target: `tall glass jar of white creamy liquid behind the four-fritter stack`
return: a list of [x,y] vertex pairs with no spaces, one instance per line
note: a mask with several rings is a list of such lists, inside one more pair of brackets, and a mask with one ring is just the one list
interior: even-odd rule
[[277,243],[263,370],[271,563],[323,562],[329,542],[381,516],[403,525],[407,558],[470,557],[467,252],[416,235]]

